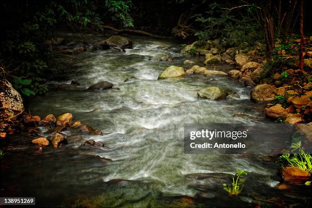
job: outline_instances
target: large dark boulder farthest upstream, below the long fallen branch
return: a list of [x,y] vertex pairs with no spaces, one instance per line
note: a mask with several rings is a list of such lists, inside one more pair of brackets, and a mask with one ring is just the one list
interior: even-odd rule
[[132,47],[132,41],[126,37],[114,35],[107,40],[102,40],[93,45],[93,49],[109,49],[112,47],[126,48]]

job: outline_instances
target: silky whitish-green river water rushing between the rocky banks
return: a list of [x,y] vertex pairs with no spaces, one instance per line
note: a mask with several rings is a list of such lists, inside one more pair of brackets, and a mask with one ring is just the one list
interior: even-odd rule
[[[60,35],[69,45],[76,43],[74,34]],[[250,89],[227,76],[190,74],[158,80],[168,66],[183,66],[186,59],[202,65],[203,59],[181,56],[181,47],[174,41],[127,36],[135,47],[126,53],[93,51],[90,44],[86,52],[74,55],[82,61],[60,58],[56,63],[65,69],[61,79],[52,77],[49,92],[29,102],[33,115],[72,113],[74,120],[104,133],[84,135],[84,140],[101,141],[106,147],[86,148],[81,146],[84,140],[72,139],[57,150],[46,147],[38,153],[29,138],[13,138],[2,165],[3,193],[36,196],[38,206],[310,205],[309,188],[276,188],[281,180],[279,165],[264,162],[263,155],[184,154],[185,123],[270,121],[264,118],[263,106],[250,101]],[[87,36],[90,42],[107,37]],[[169,53],[173,61],[149,60],[160,53]],[[225,72],[231,69],[216,66]],[[80,82],[81,91],[55,89],[57,84],[72,80]],[[119,89],[85,90],[101,81]],[[235,91],[240,98],[198,99],[197,91],[207,86]],[[63,133],[77,134],[71,130]],[[229,196],[222,184],[230,182],[226,174],[234,174],[237,168],[248,172],[247,181],[239,196]]]

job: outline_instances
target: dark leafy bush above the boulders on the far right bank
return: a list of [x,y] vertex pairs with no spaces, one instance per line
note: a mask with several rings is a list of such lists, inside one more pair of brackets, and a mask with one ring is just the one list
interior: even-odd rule
[[[262,33],[259,33],[260,27],[255,19],[242,13],[229,14],[224,7],[229,5],[220,5],[212,3],[209,5],[209,11],[205,14],[197,14],[196,22],[199,28],[195,36],[200,40],[211,40],[221,38],[223,46],[247,47],[254,45],[256,40],[262,39]],[[252,6],[248,8],[251,10]]]

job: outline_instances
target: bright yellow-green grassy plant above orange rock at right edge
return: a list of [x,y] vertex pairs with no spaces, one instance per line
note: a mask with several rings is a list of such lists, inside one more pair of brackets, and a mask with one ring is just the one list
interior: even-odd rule
[[312,173],[312,157],[309,153],[306,153],[301,147],[301,141],[293,143],[291,148],[294,148],[292,151],[298,150],[299,153],[294,153],[291,155],[289,152],[283,153],[280,156],[281,165],[290,165],[293,167],[298,167],[301,170]]

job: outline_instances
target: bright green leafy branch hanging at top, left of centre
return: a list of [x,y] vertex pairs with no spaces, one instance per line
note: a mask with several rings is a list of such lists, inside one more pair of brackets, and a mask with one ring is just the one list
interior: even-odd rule
[[133,28],[133,18],[129,15],[133,6],[131,0],[106,0],[105,6],[113,14],[113,20],[121,21],[126,28]]

